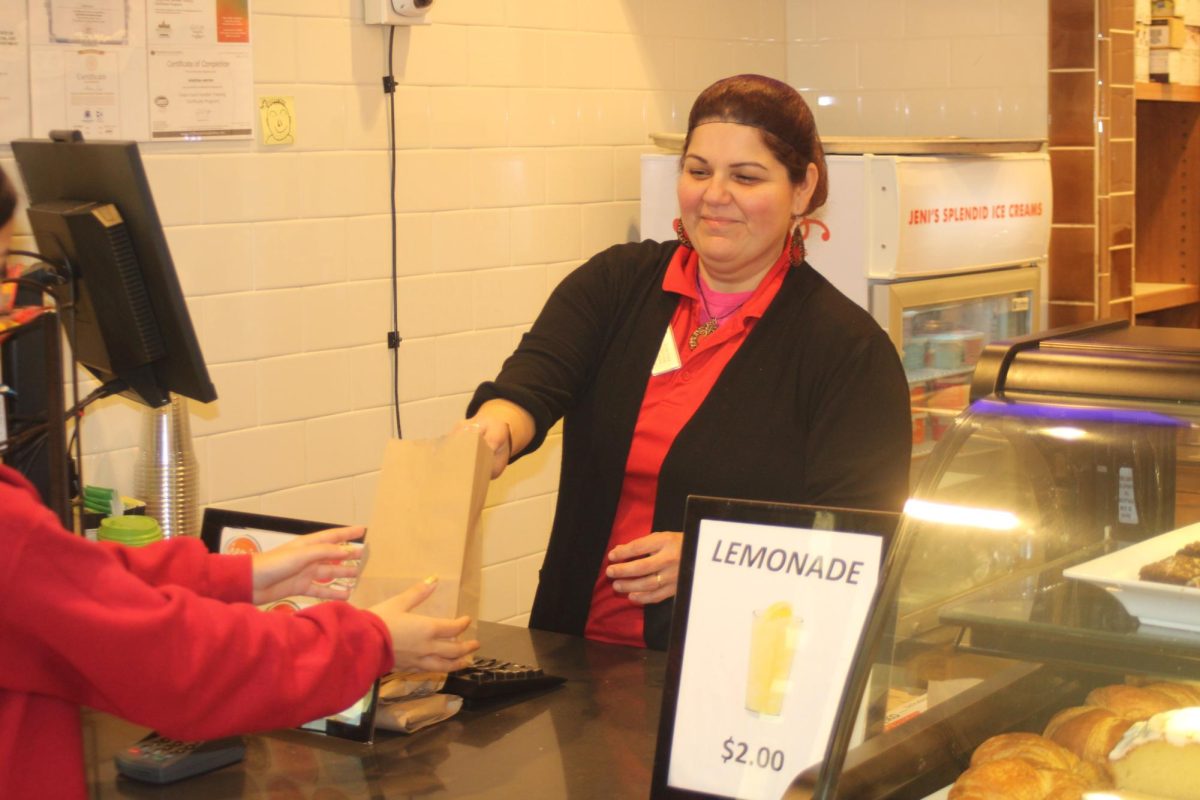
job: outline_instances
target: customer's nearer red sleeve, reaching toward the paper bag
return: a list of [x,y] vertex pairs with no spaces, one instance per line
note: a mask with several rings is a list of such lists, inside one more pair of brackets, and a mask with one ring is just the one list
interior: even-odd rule
[[122,560],[62,530],[31,492],[2,480],[0,510],[5,688],[206,739],[334,714],[392,666],[388,630],[370,612],[325,602],[271,614],[184,585],[152,587],[131,565],[166,579],[174,566],[160,559],[208,557],[193,542],[173,541],[146,563]]

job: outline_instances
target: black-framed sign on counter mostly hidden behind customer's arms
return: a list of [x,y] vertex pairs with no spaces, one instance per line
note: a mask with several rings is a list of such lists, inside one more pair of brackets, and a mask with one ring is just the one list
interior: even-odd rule
[[[277,547],[295,536],[341,527],[343,525],[313,519],[276,517],[228,509],[205,509],[200,522],[200,540],[211,553],[254,553]],[[306,600],[310,601],[308,604],[320,602]],[[301,607],[299,599],[284,599],[266,606],[264,613],[296,612]],[[378,705],[379,680],[376,680],[371,691],[349,709],[334,716],[306,722],[300,726],[300,729],[336,739],[370,742],[374,739]]]

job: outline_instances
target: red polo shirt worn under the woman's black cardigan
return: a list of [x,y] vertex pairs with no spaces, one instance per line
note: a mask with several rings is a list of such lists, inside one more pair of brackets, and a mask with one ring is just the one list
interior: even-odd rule
[[[700,257],[696,251],[680,247],[667,265],[662,278],[664,291],[679,295],[679,305],[671,318],[671,332],[679,353],[680,367],[659,375],[650,375],[642,398],[642,409],[634,427],[634,440],[625,463],[625,480],[620,487],[617,516],[605,553],[648,534],[654,522],[654,499],[658,495],[659,468],[676,435],[704,402],[725,365],[745,341],[750,329],[775,299],[788,269],[788,248],[758,283],[750,299],[732,315],[724,319],[713,333],[700,338],[695,350],[688,339],[703,319],[696,289]],[[646,646],[642,607],[626,595],[613,591],[605,555],[592,589],[592,609],[584,636],[589,639]]]

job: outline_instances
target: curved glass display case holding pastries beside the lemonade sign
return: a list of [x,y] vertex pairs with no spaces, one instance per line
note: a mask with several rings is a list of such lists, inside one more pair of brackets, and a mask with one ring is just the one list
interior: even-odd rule
[[790,794],[946,796],[980,744],[1025,732],[1078,768],[1045,796],[1200,796],[1129,794],[1120,735],[1084,752],[1056,727],[1094,708],[1122,733],[1192,718],[1169,754],[1200,769],[1200,708],[1176,710],[1200,706],[1200,578],[1144,570],[1200,575],[1193,543],[1200,331],[1102,321],[985,348],[906,507],[827,759]]

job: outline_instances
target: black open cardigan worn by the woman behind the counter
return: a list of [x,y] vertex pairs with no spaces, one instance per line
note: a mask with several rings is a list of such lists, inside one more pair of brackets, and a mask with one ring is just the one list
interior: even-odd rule
[[[566,276],[467,409],[499,397],[529,411],[536,432],[524,452],[565,417],[532,627],[583,633],[650,366],[679,302],[662,290],[677,247],[617,245]],[[890,339],[802,264],[671,446],[652,530],[683,530],[689,494],[899,510],[911,426]],[[647,607],[647,644],[665,648],[670,625],[670,601]]]

